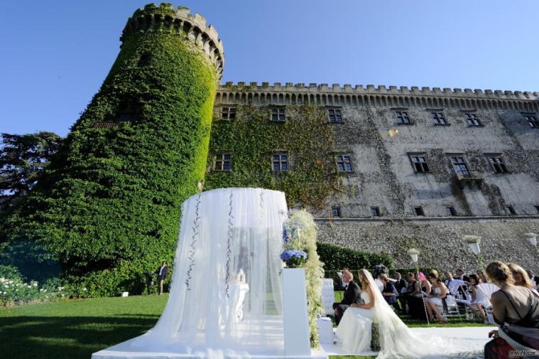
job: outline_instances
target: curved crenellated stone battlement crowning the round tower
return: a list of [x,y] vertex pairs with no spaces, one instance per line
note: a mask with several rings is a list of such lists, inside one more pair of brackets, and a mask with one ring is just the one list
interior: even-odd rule
[[212,25],[206,26],[206,18],[200,14],[191,15],[188,8],[169,3],[148,4],[144,9],[137,9],[127,20],[120,41],[124,43],[129,36],[138,32],[168,31],[183,33],[197,44],[215,65],[217,78],[221,80],[224,67],[224,50],[217,30]]

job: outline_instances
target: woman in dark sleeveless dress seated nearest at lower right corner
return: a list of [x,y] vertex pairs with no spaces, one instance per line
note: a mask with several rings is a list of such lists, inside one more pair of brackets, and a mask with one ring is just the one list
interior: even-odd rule
[[486,343],[485,359],[509,358],[509,352],[539,350],[539,296],[525,286],[514,285],[511,269],[502,262],[491,262],[486,274],[500,287],[491,296],[492,314],[499,325]]

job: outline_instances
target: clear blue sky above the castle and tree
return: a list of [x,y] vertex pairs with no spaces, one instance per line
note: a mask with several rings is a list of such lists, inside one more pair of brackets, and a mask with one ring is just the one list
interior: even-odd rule
[[[3,1],[0,132],[64,136],[148,0]],[[223,82],[539,91],[537,0],[182,0],[224,43]]]

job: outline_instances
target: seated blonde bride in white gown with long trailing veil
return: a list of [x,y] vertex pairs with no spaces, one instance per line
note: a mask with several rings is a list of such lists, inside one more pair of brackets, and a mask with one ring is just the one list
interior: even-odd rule
[[428,341],[415,336],[401,318],[393,312],[383,299],[381,291],[366,269],[359,270],[361,299],[363,304],[354,304],[344,311],[335,335],[342,347],[350,354],[369,351],[371,326],[378,326],[380,353],[377,358],[474,358],[483,351],[484,343],[451,343],[430,336]]

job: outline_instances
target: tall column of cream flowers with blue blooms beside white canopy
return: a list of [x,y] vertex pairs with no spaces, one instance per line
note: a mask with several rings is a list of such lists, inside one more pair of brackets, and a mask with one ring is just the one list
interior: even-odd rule
[[310,345],[317,348],[318,328],[316,319],[324,313],[322,305],[322,278],[324,264],[316,252],[317,227],[312,215],[306,210],[288,211],[288,220],[283,225],[284,252],[281,259],[288,267],[305,269],[307,281],[307,314],[309,318]]

